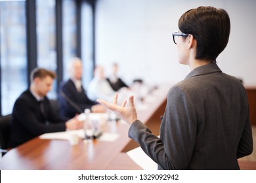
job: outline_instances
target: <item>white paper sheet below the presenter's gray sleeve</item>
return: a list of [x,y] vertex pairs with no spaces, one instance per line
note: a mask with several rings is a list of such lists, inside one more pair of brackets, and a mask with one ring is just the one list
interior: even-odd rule
[[142,148],[134,148],[133,150],[130,150],[127,152],[128,156],[130,156],[135,163],[137,163],[142,169],[144,170],[157,170],[158,164],[153,161],[151,158],[144,153]]

